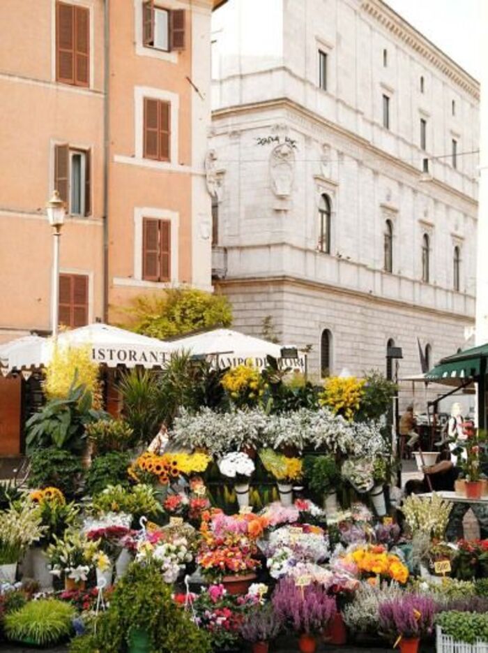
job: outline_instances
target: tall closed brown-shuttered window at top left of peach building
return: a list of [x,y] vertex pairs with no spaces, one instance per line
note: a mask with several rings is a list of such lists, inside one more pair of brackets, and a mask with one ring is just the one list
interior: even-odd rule
[[90,11],[86,7],[56,3],[56,80],[89,86]]

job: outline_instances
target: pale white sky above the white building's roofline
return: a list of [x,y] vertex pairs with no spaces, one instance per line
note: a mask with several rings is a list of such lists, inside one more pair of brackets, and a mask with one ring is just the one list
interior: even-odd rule
[[488,0],[386,0],[415,29],[480,79],[480,3]]

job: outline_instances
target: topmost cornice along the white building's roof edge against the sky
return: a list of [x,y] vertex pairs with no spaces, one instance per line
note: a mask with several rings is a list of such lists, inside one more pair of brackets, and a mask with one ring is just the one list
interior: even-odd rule
[[452,61],[447,54],[428,38],[420,34],[406,20],[399,16],[382,0],[363,0],[363,10],[376,21],[381,23],[395,38],[409,45],[412,50],[418,52],[422,57],[427,59],[430,64],[435,66],[452,82],[462,87],[466,93],[470,94],[477,101],[480,100],[480,84],[475,78],[461,68],[455,61]]

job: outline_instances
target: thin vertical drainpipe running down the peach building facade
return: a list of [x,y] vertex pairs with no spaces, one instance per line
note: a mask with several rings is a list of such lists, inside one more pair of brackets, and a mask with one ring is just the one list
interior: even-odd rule
[[104,71],[103,71],[103,321],[107,323],[109,312],[109,156],[110,156],[110,131],[109,131],[109,1],[104,5]]

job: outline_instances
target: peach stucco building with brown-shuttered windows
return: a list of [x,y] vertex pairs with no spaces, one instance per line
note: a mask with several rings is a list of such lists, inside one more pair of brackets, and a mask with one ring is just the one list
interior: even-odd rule
[[211,289],[204,161],[220,3],[1,0],[0,343],[51,330],[54,189],[67,210],[61,323],[116,321],[168,286]]

